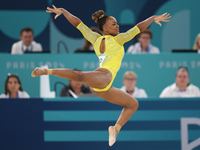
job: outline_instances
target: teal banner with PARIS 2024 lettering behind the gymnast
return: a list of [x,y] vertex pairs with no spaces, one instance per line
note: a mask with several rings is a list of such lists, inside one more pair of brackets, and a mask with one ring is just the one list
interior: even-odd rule
[[[18,74],[22,87],[31,97],[40,96],[40,78],[32,78],[31,72],[35,67],[48,65],[49,68],[79,68],[83,71],[93,71],[98,68],[98,58],[95,54],[25,54],[9,55],[0,54],[0,92],[4,92],[4,82],[8,73]],[[113,86],[121,88],[123,74],[132,70],[138,75],[138,88],[146,91],[149,97],[158,97],[162,90],[175,82],[175,75],[179,66],[187,66],[190,83],[200,87],[200,57],[198,54],[126,54],[121,68],[113,82]],[[55,90],[60,95],[61,81],[68,84],[67,79],[50,76],[51,91]]]

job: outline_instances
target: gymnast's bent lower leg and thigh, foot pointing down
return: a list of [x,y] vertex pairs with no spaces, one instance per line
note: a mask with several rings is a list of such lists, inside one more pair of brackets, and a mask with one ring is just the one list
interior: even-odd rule
[[119,130],[129,120],[133,113],[135,113],[139,104],[132,96],[114,87],[111,87],[105,92],[97,92],[97,95],[110,103],[124,107],[115,126],[109,127],[109,145],[112,146],[116,141]]

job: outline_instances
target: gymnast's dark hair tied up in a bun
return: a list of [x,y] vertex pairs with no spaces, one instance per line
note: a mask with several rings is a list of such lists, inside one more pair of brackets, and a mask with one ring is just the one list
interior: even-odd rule
[[103,25],[106,23],[106,19],[110,17],[105,15],[103,10],[98,10],[92,14],[92,19],[98,24],[99,30],[103,31]]

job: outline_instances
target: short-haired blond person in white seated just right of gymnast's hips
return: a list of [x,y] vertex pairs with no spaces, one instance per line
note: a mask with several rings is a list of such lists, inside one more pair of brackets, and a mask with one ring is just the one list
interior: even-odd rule
[[135,98],[146,98],[147,94],[145,90],[138,89],[135,85],[137,82],[137,75],[133,71],[127,71],[124,73],[123,83],[124,86],[121,87],[121,90],[127,92]]

